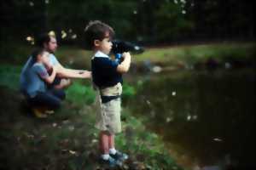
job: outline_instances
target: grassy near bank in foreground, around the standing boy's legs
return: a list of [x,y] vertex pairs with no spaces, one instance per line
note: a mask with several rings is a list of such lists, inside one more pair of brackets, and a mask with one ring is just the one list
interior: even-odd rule
[[[1,169],[106,169],[97,161],[97,130],[94,127],[95,93],[90,82],[74,81],[60,111],[46,120],[32,116],[18,92],[20,66],[0,66],[0,168]],[[124,85],[125,99],[136,94]],[[6,114],[5,111],[9,111]],[[182,170],[165,150],[160,137],[146,130],[143,117],[122,111],[123,133],[116,137],[119,150],[131,158],[119,169]]]

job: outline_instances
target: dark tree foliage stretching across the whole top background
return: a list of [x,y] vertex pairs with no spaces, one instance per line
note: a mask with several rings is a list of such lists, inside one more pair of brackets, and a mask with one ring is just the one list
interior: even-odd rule
[[43,31],[55,31],[60,42],[84,45],[90,20],[107,22],[119,38],[153,44],[253,39],[255,34],[252,3],[236,0],[3,0],[0,6],[5,23],[1,48],[6,42],[10,47],[17,41],[24,44],[27,36]]

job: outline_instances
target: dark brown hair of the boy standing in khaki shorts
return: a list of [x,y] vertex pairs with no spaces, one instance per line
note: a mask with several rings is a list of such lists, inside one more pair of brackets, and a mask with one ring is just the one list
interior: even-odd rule
[[113,28],[100,20],[90,21],[84,31],[86,46],[90,49],[94,47],[95,40],[102,41],[106,37],[112,39],[114,36]]

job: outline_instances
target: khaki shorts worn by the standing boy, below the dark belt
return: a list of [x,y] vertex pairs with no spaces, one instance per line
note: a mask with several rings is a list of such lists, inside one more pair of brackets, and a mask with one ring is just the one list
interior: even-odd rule
[[96,128],[109,133],[121,132],[121,99],[112,99],[107,103],[101,102],[100,95],[97,96],[97,105],[100,106],[96,115]]

